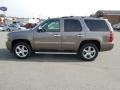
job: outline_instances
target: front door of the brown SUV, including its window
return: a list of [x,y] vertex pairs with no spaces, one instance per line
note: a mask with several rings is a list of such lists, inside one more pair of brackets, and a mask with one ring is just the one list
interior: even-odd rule
[[[61,49],[60,20],[47,20],[42,26],[42,31],[34,33],[34,46],[37,50]],[[39,27],[38,27],[39,28]]]

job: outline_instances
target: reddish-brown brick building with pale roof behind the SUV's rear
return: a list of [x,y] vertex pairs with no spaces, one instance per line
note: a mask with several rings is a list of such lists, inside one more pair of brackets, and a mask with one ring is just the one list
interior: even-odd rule
[[99,10],[95,13],[95,16],[107,18],[112,25],[120,23],[120,11]]

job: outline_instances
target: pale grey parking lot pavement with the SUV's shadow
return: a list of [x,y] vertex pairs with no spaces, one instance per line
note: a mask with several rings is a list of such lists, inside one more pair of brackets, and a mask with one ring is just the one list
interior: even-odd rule
[[38,54],[16,59],[0,32],[0,90],[120,90],[120,32],[113,50],[92,62],[75,55]]

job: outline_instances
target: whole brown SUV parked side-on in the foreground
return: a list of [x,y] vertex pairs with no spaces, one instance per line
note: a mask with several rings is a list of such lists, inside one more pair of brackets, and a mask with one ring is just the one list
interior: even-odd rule
[[102,18],[52,18],[32,30],[9,33],[6,45],[21,59],[33,52],[62,52],[91,61],[98,52],[113,48],[114,32],[108,20]]

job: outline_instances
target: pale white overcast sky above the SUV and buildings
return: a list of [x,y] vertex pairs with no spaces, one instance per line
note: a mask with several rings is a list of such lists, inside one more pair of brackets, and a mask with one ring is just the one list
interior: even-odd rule
[[[97,10],[120,10],[119,0],[0,0],[7,16],[61,17],[89,16]],[[2,13],[0,11],[0,13]]]

